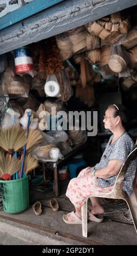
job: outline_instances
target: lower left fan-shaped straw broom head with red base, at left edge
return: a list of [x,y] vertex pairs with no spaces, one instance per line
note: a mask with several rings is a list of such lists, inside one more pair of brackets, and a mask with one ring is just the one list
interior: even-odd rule
[[15,174],[21,168],[21,162],[15,157],[1,153],[0,155],[0,177],[3,180],[9,180],[9,178]]

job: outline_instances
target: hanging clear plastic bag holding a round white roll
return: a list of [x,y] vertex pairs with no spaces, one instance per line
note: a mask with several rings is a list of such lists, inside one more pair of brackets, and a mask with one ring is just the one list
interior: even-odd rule
[[45,94],[49,97],[59,97],[60,94],[60,84],[57,81],[55,75],[48,75],[44,86]]

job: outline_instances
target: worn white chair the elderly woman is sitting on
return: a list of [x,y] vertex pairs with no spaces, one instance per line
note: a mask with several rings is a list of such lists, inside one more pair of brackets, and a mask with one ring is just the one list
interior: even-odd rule
[[[132,152],[128,155],[125,164],[120,169],[120,172],[116,178],[114,188],[109,193],[100,193],[99,195],[93,194],[93,197],[101,197],[101,198],[113,198],[113,199],[123,199],[126,201],[129,211],[131,212],[131,216],[133,219],[134,227],[137,233],[137,172],[135,174],[134,182],[133,182],[133,192],[131,196],[128,196],[126,192],[122,190],[123,188],[123,180],[125,176],[125,172],[129,166],[131,161],[135,160],[137,157],[137,147],[132,150]],[[88,199],[86,198],[84,204],[81,208],[81,215],[82,215],[82,235],[87,237],[87,206],[88,206]]]

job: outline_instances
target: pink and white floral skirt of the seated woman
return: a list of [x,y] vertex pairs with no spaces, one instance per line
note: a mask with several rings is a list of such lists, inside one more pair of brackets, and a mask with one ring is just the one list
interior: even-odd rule
[[114,185],[110,187],[99,187],[97,178],[87,172],[88,168],[81,170],[77,178],[71,179],[67,188],[66,196],[74,204],[75,208],[80,208],[87,197],[109,193],[114,187]]

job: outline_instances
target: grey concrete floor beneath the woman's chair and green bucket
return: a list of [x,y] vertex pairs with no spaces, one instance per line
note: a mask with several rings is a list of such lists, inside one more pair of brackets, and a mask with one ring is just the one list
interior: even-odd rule
[[[97,242],[103,245],[137,245],[137,234],[134,225],[126,220],[121,209],[127,209],[125,204],[114,204],[109,199],[102,200],[105,207],[105,212],[102,223],[88,222],[88,238],[84,239],[82,236],[81,225],[69,225],[63,222],[62,215],[74,210],[73,204],[65,196],[64,191],[68,185],[68,180],[60,182],[61,196],[57,198],[60,205],[60,210],[54,212],[48,207],[48,200],[55,198],[51,187],[42,187],[30,189],[30,207],[20,214],[6,214],[0,211],[0,244],[16,244],[16,245],[86,245],[87,241]],[[43,192],[37,191],[43,190]],[[36,216],[32,210],[32,204],[40,200],[42,204],[42,215]],[[90,203],[89,203],[90,208]],[[110,212],[115,212],[110,214]],[[46,227],[54,230],[53,234],[49,234],[42,230],[37,230],[36,227],[27,227],[22,223],[15,223],[12,221],[3,220],[2,216],[13,218],[14,220],[24,221],[38,225],[39,227]],[[128,218],[130,216],[128,215]],[[122,221],[125,223],[120,223]],[[62,233],[68,234],[69,238],[62,237]],[[37,234],[37,236],[36,236]],[[58,234],[58,235],[57,235]],[[73,240],[71,235],[74,235],[78,241]],[[12,239],[11,239],[12,237]]]

